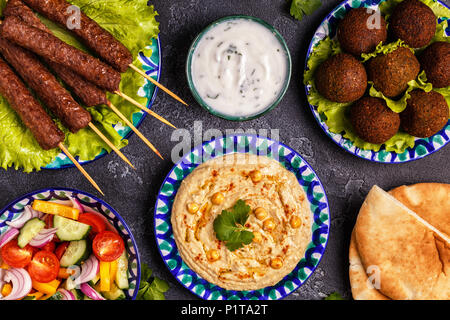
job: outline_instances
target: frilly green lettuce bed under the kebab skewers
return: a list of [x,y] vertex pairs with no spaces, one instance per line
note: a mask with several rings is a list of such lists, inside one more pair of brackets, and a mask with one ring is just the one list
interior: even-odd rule
[[[144,51],[146,55],[151,54],[151,50],[146,46],[151,38],[157,37],[159,23],[155,19],[157,12],[153,6],[147,6],[147,0],[69,0],[69,2],[79,6],[90,18],[96,20],[121,41],[135,57],[134,65],[142,66],[138,60],[139,51]],[[0,0],[0,10],[5,4],[5,0]],[[40,18],[57,37],[81,50],[88,51],[70,32],[48,19],[41,16]],[[137,96],[139,88],[144,84],[144,78],[128,70],[122,74],[120,90],[145,105],[147,99]],[[130,121],[133,114],[140,110],[115,95],[108,94],[108,99]],[[123,140],[112,127],[119,123],[120,119],[107,106],[90,107],[87,110],[92,115],[93,124],[116,147],[123,148],[127,145],[128,142]],[[80,130],[77,134],[72,134],[65,128],[62,129],[66,133],[65,143],[69,151],[82,160],[93,160],[102,150],[111,152],[111,149],[90,129]],[[60,153],[59,149],[43,151],[3,98],[0,99],[0,139],[2,140],[0,166],[5,169],[14,166],[15,169],[22,168],[25,172],[38,171],[51,163]]]

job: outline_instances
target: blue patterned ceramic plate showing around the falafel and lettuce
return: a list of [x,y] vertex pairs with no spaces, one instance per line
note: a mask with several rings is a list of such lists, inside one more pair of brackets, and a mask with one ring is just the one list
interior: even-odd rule
[[[381,2],[384,0],[346,0],[338,5],[326,18],[323,20],[322,24],[317,29],[314,34],[312,41],[309,45],[306,63],[308,62],[309,56],[311,55],[314,47],[324,38],[330,36],[333,38],[336,35],[337,23],[340,19],[342,19],[348,11],[352,8],[359,7],[371,7],[376,8]],[[447,7],[443,2],[438,1],[441,5]],[[440,18],[449,19],[449,17]],[[450,34],[450,28],[446,30],[447,35]],[[305,64],[305,68],[307,65]],[[309,94],[310,87],[305,86],[306,94]],[[402,163],[413,160],[418,160],[427,155],[430,155],[442,147],[444,147],[447,143],[450,142],[450,121],[447,125],[439,131],[437,134],[430,138],[415,138],[415,145],[413,148],[408,148],[404,153],[398,154],[396,152],[387,152],[384,149],[384,146],[380,149],[380,151],[375,152],[372,150],[363,150],[357,148],[353,145],[353,142],[349,139],[346,139],[342,136],[342,134],[333,133],[328,130],[328,126],[325,121],[322,119],[320,113],[317,111],[317,106],[313,106],[310,104],[311,111],[314,114],[317,122],[320,127],[325,131],[325,133],[341,148],[354,154],[362,159],[381,162],[381,163]]]

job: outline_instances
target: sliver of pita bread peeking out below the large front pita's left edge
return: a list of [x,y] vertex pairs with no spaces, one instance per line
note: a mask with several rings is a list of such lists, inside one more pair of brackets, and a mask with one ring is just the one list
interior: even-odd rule
[[391,300],[380,291],[374,288],[366,270],[362,265],[361,258],[359,257],[358,250],[356,248],[355,232],[352,232],[352,238],[350,240],[349,250],[349,276],[350,286],[352,288],[353,299],[355,300]]

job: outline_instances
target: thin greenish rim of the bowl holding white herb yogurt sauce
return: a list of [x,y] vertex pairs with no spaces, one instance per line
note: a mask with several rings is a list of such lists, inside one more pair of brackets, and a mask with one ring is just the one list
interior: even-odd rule
[[[215,110],[213,107],[211,107],[208,103],[205,102],[205,100],[200,96],[200,94],[198,93],[197,89],[195,88],[194,85],[194,80],[192,79],[192,59],[194,56],[194,52],[197,49],[197,46],[200,42],[200,40],[202,40],[203,36],[212,28],[214,28],[215,26],[229,21],[229,20],[236,20],[236,19],[244,19],[244,20],[251,20],[253,22],[256,22],[258,24],[260,24],[261,26],[265,27],[267,30],[269,30],[274,36],[275,38],[277,38],[278,42],[280,43],[281,47],[284,49],[284,52],[286,53],[286,62],[287,62],[287,73],[286,73],[286,77],[284,79],[284,83],[283,83],[283,87],[282,90],[280,91],[278,97],[272,102],[270,103],[267,108],[265,108],[264,110],[249,115],[249,116],[230,116],[224,113],[221,113],[217,110]],[[230,120],[230,121],[250,121],[253,119],[257,119],[259,117],[264,116],[265,114],[271,112],[273,109],[275,109],[283,100],[284,96],[286,95],[287,90],[289,89],[289,84],[291,82],[291,76],[292,76],[292,57],[291,57],[291,53],[289,51],[289,47],[287,45],[286,40],[283,38],[283,36],[281,35],[281,33],[275,29],[274,26],[272,26],[270,23],[266,22],[263,19],[254,17],[254,16],[249,16],[249,15],[231,15],[231,16],[225,16],[222,17],[218,20],[215,20],[214,22],[212,22],[211,24],[209,24],[206,28],[204,28],[194,39],[194,41],[192,41],[192,44],[189,48],[188,51],[188,56],[187,56],[187,63],[186,63],[186,77],[188,80],[188,86],[189,89],[191,90],[192,95],[194,96],[195,100],[198,102],[198,104],[205,109],[206,111],[208,111],[209,113],[211,113],[212,115],[225,119],[225,120]]]

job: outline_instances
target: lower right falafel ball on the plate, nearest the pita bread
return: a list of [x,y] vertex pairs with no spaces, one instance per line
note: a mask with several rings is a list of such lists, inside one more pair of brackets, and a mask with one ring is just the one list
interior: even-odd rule
[[406,109],[400,113],[403,130],[419,138],[433,136],[448,122],[447,102],[436,91],[414,90],[410,94]]

